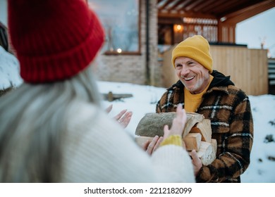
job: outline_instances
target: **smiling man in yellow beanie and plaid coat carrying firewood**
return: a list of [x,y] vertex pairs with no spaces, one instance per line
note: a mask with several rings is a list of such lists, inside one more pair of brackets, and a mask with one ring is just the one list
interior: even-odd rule
[[212,138],[218,148],[216,159],[202,165],[193,154],[196,182],[240,182],[250,164],[253,120],[250,101],[230,77],[213,70],[207,39],[195,35],[179,43],[172,52],[178,82],[161,96],[157,113],[176,111],[178,103],[187,112],[211,120]]

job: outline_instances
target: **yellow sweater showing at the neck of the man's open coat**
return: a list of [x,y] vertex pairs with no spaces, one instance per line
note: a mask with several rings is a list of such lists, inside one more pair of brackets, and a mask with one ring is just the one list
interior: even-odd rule
[[[210,75],[210,81],[209,84],[212,82],[213,76]],[[202,95],[207,91],[209,84],[199,94],[191,94],[188,89],[184,88],[184,108],[186,112],[195,112],[197,108],[200,106],[200,103],[202,103]]]

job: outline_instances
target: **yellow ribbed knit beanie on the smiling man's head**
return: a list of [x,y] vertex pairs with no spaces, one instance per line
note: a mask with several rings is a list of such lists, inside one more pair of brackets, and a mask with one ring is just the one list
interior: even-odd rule
[[188,37],[180,42],[172,51],[172,63],[175,67],[175,59],[178,57],[192,58],[197,61],[204,68],[207,68],[210,73],[213,71],[213,60],[210,54],[210,46],[207,39],[200,35]]

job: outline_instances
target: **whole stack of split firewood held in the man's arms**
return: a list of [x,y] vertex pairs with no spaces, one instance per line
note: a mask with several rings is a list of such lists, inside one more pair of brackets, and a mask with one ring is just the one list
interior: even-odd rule
[[[212,139],[210,120],[204,119],[198,113],[186,113],[187,120],[183,129],[183,141],[186,150],[190,153],[197,151],[203,165],[209,165],[216,158],[216,139]],[[148,113],[138,123],[135,130],[135,141],[139,146],[152,141],[153,137],[164,135],[164,125],[172,125],[176,113]]]

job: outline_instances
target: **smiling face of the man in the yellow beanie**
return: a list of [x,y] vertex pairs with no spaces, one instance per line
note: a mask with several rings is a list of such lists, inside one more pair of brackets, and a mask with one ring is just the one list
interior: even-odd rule
[[178,78],[192,94],[201,93],[209,83],[209,70],[191,58],[176,58],[175,69]]

